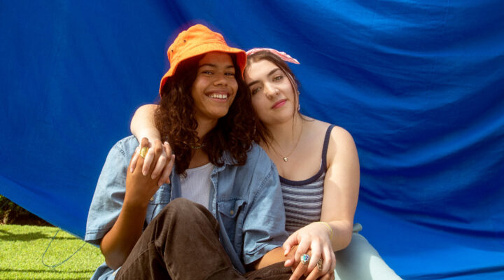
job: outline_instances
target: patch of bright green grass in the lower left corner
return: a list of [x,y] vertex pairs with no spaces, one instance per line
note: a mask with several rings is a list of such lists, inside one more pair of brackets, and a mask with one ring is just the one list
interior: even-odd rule
[[[99,248],[70,235],[62,230],[55,239],[58,228],[31,225],[0,225],[0,279],[90,279],[94,269],[104,257]],[[58,267],[46,267],[43,262],[56,265],[73,257]]]

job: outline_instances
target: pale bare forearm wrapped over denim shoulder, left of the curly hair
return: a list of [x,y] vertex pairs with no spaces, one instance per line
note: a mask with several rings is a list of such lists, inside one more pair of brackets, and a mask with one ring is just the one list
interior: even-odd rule
[[146,137],[149,141],[155,139],[161,139],[161,135],[155,126],[155,110],[158,108],[157,105],[147,104],[141,106],[134,113],[132,122],[130,125],[130,130],[132,134],[137,137],[137,139],[142,139]]

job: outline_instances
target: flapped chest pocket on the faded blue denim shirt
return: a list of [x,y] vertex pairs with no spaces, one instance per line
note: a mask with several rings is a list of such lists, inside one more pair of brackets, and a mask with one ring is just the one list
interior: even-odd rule
[[221,227],[223,226],[225,228],[233,244],[236,244],[235,240],[237,237],[241,239],[245,204],[245,200],[217,202],[218,213],[221,215],[224,224],[221,225]]

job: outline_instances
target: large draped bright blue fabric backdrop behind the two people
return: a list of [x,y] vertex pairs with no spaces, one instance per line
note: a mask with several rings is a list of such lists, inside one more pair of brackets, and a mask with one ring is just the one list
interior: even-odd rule
[[356,221],[398,274],[504,279],[502,1],[232,2],[0,1],[0,194],[83,237],[109,148],[203,23],[300,60],[302,111],[353,134]]

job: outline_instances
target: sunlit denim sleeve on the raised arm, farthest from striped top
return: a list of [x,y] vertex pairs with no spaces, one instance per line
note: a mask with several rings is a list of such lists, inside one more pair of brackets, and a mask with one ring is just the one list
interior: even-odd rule
[[84,240],[99,245],[116,223],[126,191],[126,172],[130,159],[119,141],[106,158],[92,198]]

